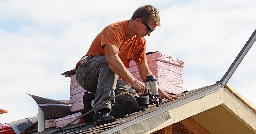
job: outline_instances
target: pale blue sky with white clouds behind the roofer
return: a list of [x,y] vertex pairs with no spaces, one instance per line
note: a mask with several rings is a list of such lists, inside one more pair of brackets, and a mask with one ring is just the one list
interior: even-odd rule
[[[183,88],[219,81],[256,29],[255,0],[0,0],[0,123],[36,116],[28,94],[69,100],[70,78],[96,35],[141,5],[160,11],[147,52],[184,61]],[[256,105],[256,44],[228,83]]]

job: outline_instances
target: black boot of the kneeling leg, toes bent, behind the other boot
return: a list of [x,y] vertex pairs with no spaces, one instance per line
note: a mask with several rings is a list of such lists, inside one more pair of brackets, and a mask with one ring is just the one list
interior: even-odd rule
[[[85,92],[84,96],[83,96],[83,104],[84,104],[84,109],[82,109],[81,114],[84,115],[85,113],[89,112],[90,110],[92,110],[92,105],[91,102],[92,100],[94,100],[95,95],[93,95],[92,93],[88,93]],[[84,120],[84,122],[92,122],[93,121],[93,111],[90,112],[89,114],[85,115],[84,117],[82,117],[82,119]]]

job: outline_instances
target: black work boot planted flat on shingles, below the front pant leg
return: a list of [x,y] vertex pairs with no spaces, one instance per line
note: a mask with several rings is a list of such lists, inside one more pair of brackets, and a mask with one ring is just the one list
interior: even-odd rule
[[93,114],[94,125],[103,125],[107,123],[114,122],[116,119],[110,116],[108,112],[104,109],[100,109]]

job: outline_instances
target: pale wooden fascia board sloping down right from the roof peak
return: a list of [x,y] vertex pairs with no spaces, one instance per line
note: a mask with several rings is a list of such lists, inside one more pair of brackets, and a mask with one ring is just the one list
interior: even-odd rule
[[256,112],[228,89],[224,89],[223,92],[223,105],[239,121],[256,133]]

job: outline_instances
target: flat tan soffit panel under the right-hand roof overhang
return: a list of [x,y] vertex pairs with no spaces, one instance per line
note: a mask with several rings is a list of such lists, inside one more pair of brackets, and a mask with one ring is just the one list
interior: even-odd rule
[[196,114],[192,118],[212,134],[255,134],[255,130],[249,129],[223,105]]

